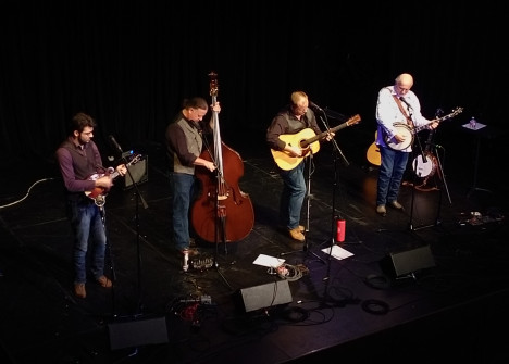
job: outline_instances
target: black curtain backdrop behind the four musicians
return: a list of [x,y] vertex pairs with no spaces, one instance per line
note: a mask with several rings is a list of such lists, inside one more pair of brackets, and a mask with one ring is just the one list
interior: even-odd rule
[[96,118],[104,148],[109,135],[124,150],[162,142],[184,98],[210,98],[211,71],[234,149],[265,148],[272,116],[302,89],[322,108],[360,114],[364,150],[376,95],[401,72],[414,76],[426,116],[462,106],[454,127],[475,115],[505,128],[501,5],[371,3],[4,0],[0,151],[52,159],[78,111]]

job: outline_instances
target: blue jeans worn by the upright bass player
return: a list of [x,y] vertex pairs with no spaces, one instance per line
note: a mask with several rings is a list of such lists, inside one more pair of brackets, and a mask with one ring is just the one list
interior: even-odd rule
[[189,248],[189,206],[194,197],[195,176],[172,173],[173,243],[178,250]]

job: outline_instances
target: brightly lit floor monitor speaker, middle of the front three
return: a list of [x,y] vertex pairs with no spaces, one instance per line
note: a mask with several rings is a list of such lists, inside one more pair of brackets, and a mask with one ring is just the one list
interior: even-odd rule
[[291,292],[288,280],[240,289],[235,300],[245,312],[272,307],[291,302]]

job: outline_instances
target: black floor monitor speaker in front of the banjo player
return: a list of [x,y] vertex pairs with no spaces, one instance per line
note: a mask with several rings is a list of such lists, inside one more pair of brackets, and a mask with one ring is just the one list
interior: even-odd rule
[[435,260],[430,246],[390,253],[381,262],[382,269],[392,277],[400,277],[409,273],[435,266]]

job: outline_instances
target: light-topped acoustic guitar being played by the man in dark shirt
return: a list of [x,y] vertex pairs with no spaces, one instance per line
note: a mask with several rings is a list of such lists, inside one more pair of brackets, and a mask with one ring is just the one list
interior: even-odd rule
[[[343,124],[339,124],[333,128],[331,128],[332,133],[336,133],[337,130],[344,129],[347,126],[356,125],[360,122],[360,115],[357,114],[350,117]],[[303,161],[306,156],[309,155],[310,152],[313,154],[318,153],[320,150],[320,139],[324,138],[328,131],[321,133],[316,135],[313,129],[306,128],[300,130],[297,134],[283,134],[280,135],[280,139],[286,142],[289,146],[298,146],[302,153],[301,156],[293,156],[286,151],[282,150],[274,150],[271,149],[272,158],[276,162],[277,166],[285,171],[294,170],[296,166]]]

